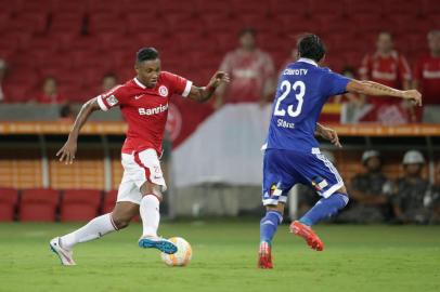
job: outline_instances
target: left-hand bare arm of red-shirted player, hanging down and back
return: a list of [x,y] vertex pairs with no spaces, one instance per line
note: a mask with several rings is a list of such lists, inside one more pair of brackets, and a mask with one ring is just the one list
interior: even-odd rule
[[98,104],[96,97],[88,101],[86,104],[82,105],[81,110],[79,111],[78,116],[76,117],[75,123],[72,127],[70,133],[68,134],[67,142],[56,152],[56,156],[60,156],[61,162],[65,161],[66,164],[72,164],[74,162],[79,130],[81,130],[90,114],[98,109],[100,109],[100,105]]

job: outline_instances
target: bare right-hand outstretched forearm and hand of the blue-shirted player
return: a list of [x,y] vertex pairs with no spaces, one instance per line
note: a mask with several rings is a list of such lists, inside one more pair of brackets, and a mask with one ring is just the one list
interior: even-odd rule
[[347,84],[347,91],[365,95],[400,97],[422,106],[422,94],[416,90],[397,90],[373,81],[351,80]]

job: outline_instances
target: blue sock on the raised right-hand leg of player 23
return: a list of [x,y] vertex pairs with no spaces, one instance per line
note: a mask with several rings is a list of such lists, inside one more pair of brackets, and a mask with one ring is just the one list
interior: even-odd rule
[[328,198],[322,198],[316,204],[309,210],[299,222],[312,226],[323,218],[335,215],[339,210],[348,203],[348,196],[340,193],[334,193]]

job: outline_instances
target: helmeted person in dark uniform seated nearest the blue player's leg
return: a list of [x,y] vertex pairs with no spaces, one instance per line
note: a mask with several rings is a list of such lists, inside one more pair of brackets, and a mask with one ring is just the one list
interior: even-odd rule
[[340,222],[383,223],[390,217],[390,195],[392,183],[381,172],[380,152],[367,150],[362,155],[364,173],[357,174],[350,182],[350,205],[338,216]]

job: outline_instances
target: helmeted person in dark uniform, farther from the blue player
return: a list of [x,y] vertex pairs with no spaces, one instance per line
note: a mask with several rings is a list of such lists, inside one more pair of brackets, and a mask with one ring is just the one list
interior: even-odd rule
[[403,156],[404,176],[396,184],[393,210],[398,222],[426,224],[430,212],[426,208],[430,200],[429,182],[422,177],[425,158],[417,150]]

